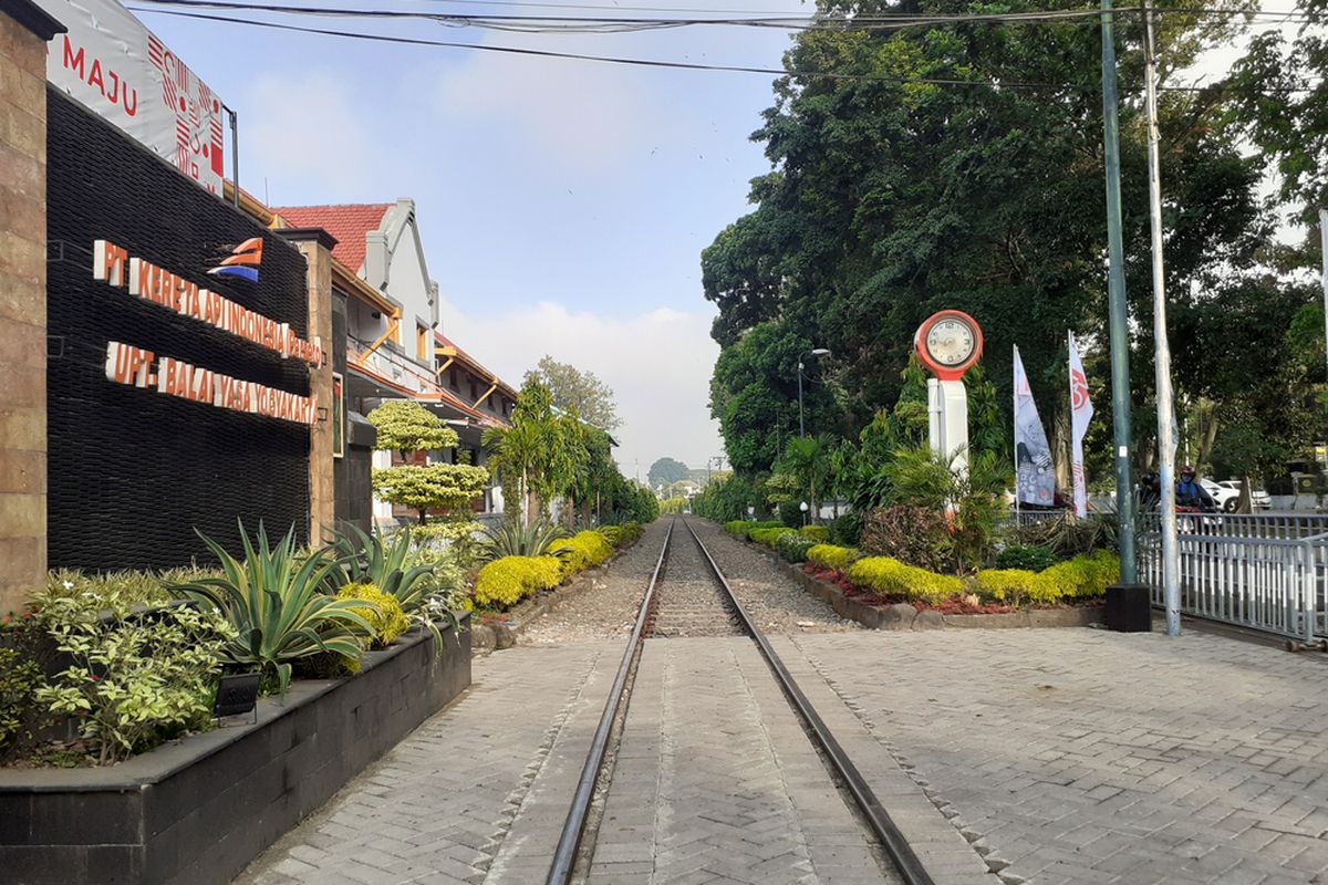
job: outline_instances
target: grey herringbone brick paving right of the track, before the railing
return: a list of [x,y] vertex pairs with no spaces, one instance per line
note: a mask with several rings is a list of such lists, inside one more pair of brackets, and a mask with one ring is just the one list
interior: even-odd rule
[[1008,882],[1328,882],[1323,657],[1086,629],[789,645]]

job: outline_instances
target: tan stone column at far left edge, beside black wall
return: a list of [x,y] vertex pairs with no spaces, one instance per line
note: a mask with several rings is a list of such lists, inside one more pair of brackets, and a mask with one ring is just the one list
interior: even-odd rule
[[46,41],[0,0],[0,614],[46,575]]

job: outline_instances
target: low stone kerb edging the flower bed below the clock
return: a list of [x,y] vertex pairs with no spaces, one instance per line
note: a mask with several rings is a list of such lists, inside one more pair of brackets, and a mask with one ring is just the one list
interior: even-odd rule
[[[732,535],[730,535],[732,537]],[[1015,629],[1015,628],[1056,628],[1056,626],[1089,626],[1102,622],[1102,606],[1084,606],[1069,609],[1028,609],[1025,612],[1007,612],[997,614],[942,614],[940,612],[919,612],[907,602],[894,605],[871,605],[849,598],[843,590],[829,581],[822,581],[814,575],[802,571],[801,563],[786,563],[778,553],[770,551],[764,544],[756,544],[745,539],[734,539],[748,545],[777,568],[782,568],[805,590],[826,602],[839,617],[857,621],[872,630],[940,630],[944,628],[960,629]]]

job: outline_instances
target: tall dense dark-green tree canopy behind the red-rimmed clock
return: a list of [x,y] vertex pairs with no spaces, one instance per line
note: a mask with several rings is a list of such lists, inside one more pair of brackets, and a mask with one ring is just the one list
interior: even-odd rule
[[[972,11],[955,0],[818,5],[822,13]],[[1163,74],[1167,85],[1185,86],[1178,72],[1244,24],[1230,15],[1181,15],[1175,3],[1167,8]],[[1045,9],[1027,1],[1001,7]],[[1137,13],[1118,21],[1134,407],[1146,414],[1153,348],[1142,28]],[[1321,50],[1301,41],[1303,53]],[[1260,78],[1292,64],[1292,49],[1279,52],[1264,52],[1262,68],[1248,62],[1248,82],[1165,93],[1166,267],[1178,326],[1190,309],[1238,304],[1266,271],[1276,214],[1259,196],[1263,165],[1248,139],[1262,135],[1292,166],[1305,161],[1276,114],[1256,125],[1239,111],[1258,96],[1268,100]],[[817,366],[823,377],[805,385],[809,426],[851,439],[899,402],[914,330],[940,308],[967,310],[981,324],[992,407],[1007,415],[1019,345],[1062,446],[1054,429],[1065,427],[1065,337],[1074,332],[1094,375],[1100,418],[1090,443],[1109,463],[1109,397],[1098,386],[1108,375],[1100,58],[1094,19],[799,34],[785,61],[790,73],[753,135],[772,171],[752,184],[753,211],[701,256],[721,345],[710,407],[736,470],[768,470],[797,427],[799,354],[811,346],[833,352]],[[1321,110],[1288,113],[1328,130]],[[1194,379],[1178,375],[1183,391]],[[1198,395],[1202,385],[1191,386]]]

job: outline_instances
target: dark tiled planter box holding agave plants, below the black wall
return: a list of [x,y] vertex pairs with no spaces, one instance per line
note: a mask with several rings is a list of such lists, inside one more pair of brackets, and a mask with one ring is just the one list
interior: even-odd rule
[[[466,616],[469,618],[469,616]],[[465,621],[462,621],[465,624]],[[109,768],[0,771],[13,885],[223,885],[470,685],[470,632],[412,633],[347,679],[301,681],[258,723]]]

